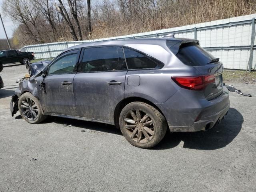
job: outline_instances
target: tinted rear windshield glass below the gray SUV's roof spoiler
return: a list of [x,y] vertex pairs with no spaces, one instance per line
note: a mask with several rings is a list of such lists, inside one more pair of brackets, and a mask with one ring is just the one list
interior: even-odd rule
[[203,66],[214,59],[214,56],[194,43],[181,46],[176,56],[189,66]]

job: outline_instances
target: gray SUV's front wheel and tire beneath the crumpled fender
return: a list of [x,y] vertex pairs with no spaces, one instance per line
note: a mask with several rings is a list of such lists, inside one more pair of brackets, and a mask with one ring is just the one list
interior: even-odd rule
[[47,116],[43,114],[39,100],[29,92],[20,96],[18,108],[22,118],[29,123],[40,123],[47,118]]

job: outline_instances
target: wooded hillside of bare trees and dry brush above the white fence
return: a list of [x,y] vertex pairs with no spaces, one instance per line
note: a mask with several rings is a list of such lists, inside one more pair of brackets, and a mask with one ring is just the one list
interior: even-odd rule
[[3,0],[2,9],[18,24],[13,41],[22,46],[105,38],[248,15],[256,12],[256,1]]

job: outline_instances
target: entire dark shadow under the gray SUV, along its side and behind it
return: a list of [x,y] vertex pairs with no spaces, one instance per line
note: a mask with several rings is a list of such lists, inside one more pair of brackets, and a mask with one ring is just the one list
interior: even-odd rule
[[[21,118],[21,116],[16,116],[16,118]],[[69,126],[71,124],[72,126],[79,128],[122,135],[121,131],[115,126],[103,123],[54,116],[49,116],[43,123],[47,124],[52,122],[61,124],[62,126]],[[181,141],[184,142],[184,148],[197,150],[216,150],[223,148],[236,138],[242,128],[243,122],[244,118],[242,114],[236,109],[230,108],[226,118],[214,128],[201,132],[167,132],[164,139],[157,146],[152,148],[152,150],[174,148],[178,146]]]

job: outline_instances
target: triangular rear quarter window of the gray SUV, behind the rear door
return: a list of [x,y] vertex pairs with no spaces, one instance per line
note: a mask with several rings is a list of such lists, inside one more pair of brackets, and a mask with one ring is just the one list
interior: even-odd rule
[[124,48],[124,55],[128,69],[152,69],[164,66],[160,61],[132,49]]

